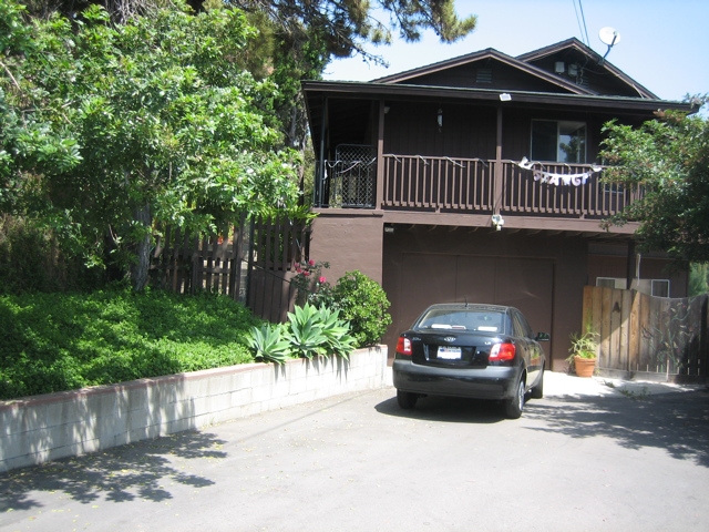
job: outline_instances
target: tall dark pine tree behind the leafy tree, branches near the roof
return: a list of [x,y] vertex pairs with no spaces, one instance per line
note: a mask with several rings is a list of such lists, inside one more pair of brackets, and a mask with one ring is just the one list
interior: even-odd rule
[[[103,6],[116,23],[171,0],[24,0],[34,17],[59,11],[74,18],[88,6]],[[245,12],[259,30],[249,41],[247,68],[257,78],[279,86],[269,125],[282,133],[285,146],[306,152],[308,124],[300,81],[319,79],[332,58],[359,54],[384,64],[368,43],[389,43],[393,33],[417,41],[432,29],[442,42],[454,42],[474,30],[475,16],[460,19],[455,0],[187,0],[195,12],[234,8]],[[379,10],[377,10],[379,8]],[[388,13],[388,14],[384,14]],[[388,20],[379,20],[384,17]],[[300,182],[305,168],[300,167]]]

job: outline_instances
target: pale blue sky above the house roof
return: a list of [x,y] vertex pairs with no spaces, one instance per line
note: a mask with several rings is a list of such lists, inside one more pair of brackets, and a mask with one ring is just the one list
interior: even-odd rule
[[578,7],[579,0],[456,0],[459,16],[477,16],[465,39],[443,44],[427,31],[417,43],[370,45],[388,69],[354,57],[335,60],[325,79],[370,81],[487,48],[516,57],[572,37],[604,55],[598,32],[610,27],[620,40],[606,60],[639,84],[664,100],[709,93],[709,0],[580,0],[583,19]]

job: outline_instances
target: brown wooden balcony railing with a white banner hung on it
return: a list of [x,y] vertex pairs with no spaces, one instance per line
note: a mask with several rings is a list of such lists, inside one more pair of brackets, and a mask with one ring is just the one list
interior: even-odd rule
[[[599,219],[620,212],[637,201],[637,191],[600,183],[603,167],[588,164],[383,155],[383,173],[371,180],[353,178],[348,172],[332,172],[329,202],[320,206],[371,206],[374,180],[382,180],[380,207],[392,211],[573,217]],[[364,162],[362,162],[363,164]],[[376,167],[376,160],[366,162]],[[335,167],[335,166],[333,166]],[[341,175],[340,175],[341,174]],[[361,194],[353,190],[359,188]],[[366,187],[366,188],[364,188]],[[347,194],[345,194],[347,193]],[[371,197],[371,203],[347,202],[348,197]]]

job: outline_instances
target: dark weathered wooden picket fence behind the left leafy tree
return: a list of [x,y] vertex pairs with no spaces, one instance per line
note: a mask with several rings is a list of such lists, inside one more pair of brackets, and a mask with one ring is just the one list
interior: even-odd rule
[[291,307],[294,266],[306,258],[307,232],[286,216],[248,219],[227,231],[195,236],[166,228],[152,257],[152,282],[181,294],[229,295],[269,321],[284,321]]

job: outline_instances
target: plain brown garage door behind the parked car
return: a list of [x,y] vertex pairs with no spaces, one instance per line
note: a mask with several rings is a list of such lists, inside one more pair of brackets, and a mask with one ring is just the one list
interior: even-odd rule
[[[535,331],[552,331],[554,263],[548,259],[407,253],[392,300],[397,331],[433,303],[517,307]],[[549,346],[544,345],[548,355]]]

